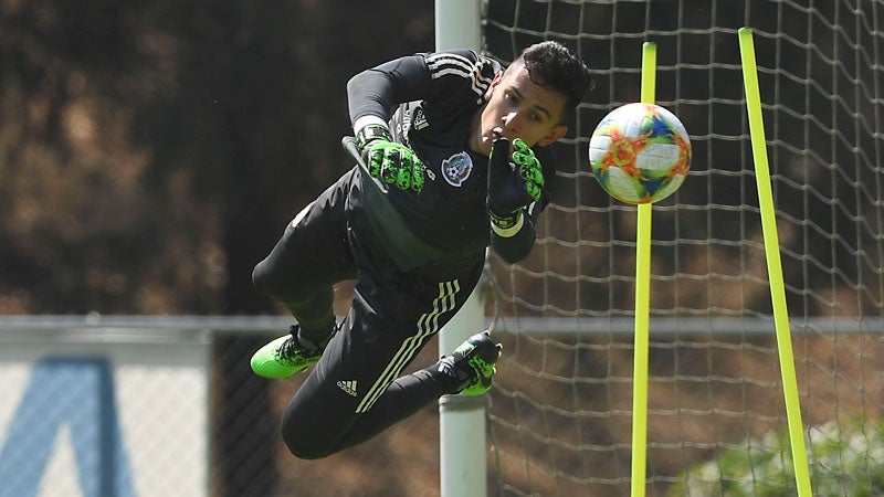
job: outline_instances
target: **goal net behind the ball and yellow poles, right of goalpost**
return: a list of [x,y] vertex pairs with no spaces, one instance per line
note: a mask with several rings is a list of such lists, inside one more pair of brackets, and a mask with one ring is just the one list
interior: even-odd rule
[[693,162],[653,208],[646,490],[796,495],[737,30],[755,36],[798,378],[817,495],[884,491],[884,2],[535,1],[483,6],[509,62],[557,40],[594,88],[557,144],[554,203],[518,265],[490,260],[504,341],[490,494],[628,495],[636,209],[587,162],[603,115],[640,99],[685,124]]

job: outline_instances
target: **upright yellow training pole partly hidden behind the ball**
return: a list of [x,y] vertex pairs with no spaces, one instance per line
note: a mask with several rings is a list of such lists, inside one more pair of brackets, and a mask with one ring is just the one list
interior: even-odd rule
[[[654,103],[656,45],[642,45],[642,102]],[[651,313],[651,204],[639,205],[635,233],[635,358],[632,389],[632,497],[644,496],[648,462],[648,349]]]

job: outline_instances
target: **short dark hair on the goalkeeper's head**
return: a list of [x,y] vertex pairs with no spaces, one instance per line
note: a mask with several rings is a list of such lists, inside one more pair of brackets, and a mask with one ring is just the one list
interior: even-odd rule
[[545,41],[528,46],[511,67],[516,65],[528,70],[533,82],[565,95],[561,123],[570,117],[592,86],[589,67],[559,42]]

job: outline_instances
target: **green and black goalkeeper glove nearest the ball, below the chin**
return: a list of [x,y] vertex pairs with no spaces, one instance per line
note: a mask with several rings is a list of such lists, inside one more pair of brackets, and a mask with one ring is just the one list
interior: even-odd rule
[[522,228],[525,208],[540,200],[544,189],[540,161],[520,138],[498,138],[488,156],[488,218],[501,236],[513,236]]

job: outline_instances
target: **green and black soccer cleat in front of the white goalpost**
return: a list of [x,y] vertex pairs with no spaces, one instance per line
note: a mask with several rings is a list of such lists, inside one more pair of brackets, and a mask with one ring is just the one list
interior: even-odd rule
[[439,370],[459,381],[455,393],[481,395],[491,390],[492,377],[497,371],[494,363],[501,357],[503,346],[495,343],[487,331],[473,335],[461,343],[451,356],[439,361]]

